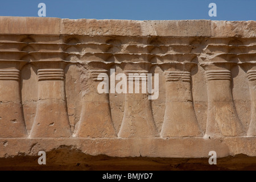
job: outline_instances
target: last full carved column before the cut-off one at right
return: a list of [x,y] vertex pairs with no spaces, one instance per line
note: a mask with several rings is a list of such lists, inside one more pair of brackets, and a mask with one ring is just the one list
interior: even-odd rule
[[208,117],[205,138],[236,137],[245,135],[231,88],[231,67],[233,63],[203,63],[208,88]]

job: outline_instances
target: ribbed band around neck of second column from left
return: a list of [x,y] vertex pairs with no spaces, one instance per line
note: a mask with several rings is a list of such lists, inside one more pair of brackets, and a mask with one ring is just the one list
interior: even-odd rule
[[38,81],[42,80],[64,80],[63,69],[39,69]]

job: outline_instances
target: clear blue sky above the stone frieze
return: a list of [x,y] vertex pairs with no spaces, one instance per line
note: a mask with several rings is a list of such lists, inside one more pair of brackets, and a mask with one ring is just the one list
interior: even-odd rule
[[[256,0],[1,0],[0,16],[38,16],[41,2],[46,16],[57,18],[256,20]],[[208,15],[209,3],[216,3],[216,17]]]

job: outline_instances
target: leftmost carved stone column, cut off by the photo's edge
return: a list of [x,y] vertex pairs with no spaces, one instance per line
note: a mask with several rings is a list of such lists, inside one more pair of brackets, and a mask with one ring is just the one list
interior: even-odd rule
[[0,61],[0,138],[26,137],[20,69],[26,61]]

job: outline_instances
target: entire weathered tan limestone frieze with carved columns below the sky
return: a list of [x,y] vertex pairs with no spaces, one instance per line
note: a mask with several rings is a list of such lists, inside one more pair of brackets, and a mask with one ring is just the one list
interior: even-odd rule
[[[255,29],[254,21],[0,17],[0,169],[9,157],[63,148],[86,155],[84,166],[105,155],[208,162],[209,151],[254,161]],[[148,74],[159,84],[155,100]]]

